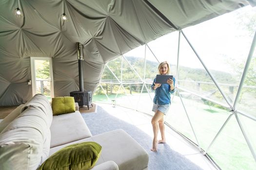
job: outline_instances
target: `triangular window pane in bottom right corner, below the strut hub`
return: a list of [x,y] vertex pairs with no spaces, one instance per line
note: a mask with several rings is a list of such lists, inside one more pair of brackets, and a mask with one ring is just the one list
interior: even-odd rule
[[222,170],[255,170],[256,162],[235,116],[223,128],[208,154]]

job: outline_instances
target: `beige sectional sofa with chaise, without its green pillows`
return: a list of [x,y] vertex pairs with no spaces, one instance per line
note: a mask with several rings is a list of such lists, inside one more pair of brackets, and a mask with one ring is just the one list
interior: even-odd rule
[[36,170],[53,153],[86,141],[102,147],[91,170],[148,169],[147,152],[125,131],[92,136],[79,111],[53,116],[47,98],[38,94],[0,122],[0,170]]

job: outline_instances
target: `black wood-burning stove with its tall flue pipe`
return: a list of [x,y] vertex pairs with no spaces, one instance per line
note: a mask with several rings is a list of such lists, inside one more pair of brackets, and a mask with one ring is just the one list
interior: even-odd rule
[[78,52],[78,69],[79,69],[79,91],[70,92],[70,96],[74,97],[75,102],[78,102],[79,106],[92,105],[92,92],[83,90],[83,72],[82,72],[82,60],[83,60],[83,45],[77,42]]

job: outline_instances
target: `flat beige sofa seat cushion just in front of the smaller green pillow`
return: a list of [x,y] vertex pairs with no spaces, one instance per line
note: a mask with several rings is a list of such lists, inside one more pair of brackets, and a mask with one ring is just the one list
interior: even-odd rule
[[79,111],[53,117],[51,148],[92,136]]

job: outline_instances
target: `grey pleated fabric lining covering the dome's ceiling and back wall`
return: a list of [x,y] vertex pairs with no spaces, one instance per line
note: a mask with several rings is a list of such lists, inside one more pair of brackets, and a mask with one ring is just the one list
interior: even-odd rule
[[55,96],[69,96],[79,89],[82,43],[84,88],[94,91],[111,59],[249,2],[255,0],[0,0],[0,105],[32,97],[30,57],[52,57]]

